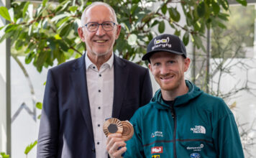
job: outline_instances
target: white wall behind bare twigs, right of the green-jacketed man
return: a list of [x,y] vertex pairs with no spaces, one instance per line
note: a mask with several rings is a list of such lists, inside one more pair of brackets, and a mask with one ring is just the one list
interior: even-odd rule
[[[220,60],[219,60],[220,61]],[[246,68],[242,66],[246,64]],[[211,65],[214,67],[214,62],[211,60]],[[237,124],[239,125],[240,135],[243,131],[247,131],[242,139],[242,144],[250,144],[256,141],[256,58],[244,58],[244,59],[229,59],[224,63],[225,65],[232,65],[229,69],[229,74],[224,74],[220,80],[220,91],[222,93],[228,93],[233,88],[239,89],[247,84],[250,91],[240,90],[238,93],[229,97],[229,99],[224,99],[228,106],[236,102],[236,106],[232,108]],[[216,73],[213,80],[217,83],[219,79],[219,72]],[[247,82],[249,80],[249,82]],[[217,85],[211,85],[214,90],[216,90]],[[241,126],[244,124],[243,126]],[[252,128],[252,129],[250,129]],[[254,139],[254,141],[252,141]],[[252,145],[248,148],[250,154],[256,156],[256,145]],[[249,154],[244,151],[245,157],[249,157]]]

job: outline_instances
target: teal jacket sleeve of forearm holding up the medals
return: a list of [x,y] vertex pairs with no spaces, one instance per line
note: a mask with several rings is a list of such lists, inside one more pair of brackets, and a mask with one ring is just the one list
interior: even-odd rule
[[132,139],[127,141],[127,152],[124,154],[124,158],[144,158],[144,149],[142,144],[142,132],[140,122],[137,119],[138,111],[132,116],[131,123],[134,128],[134,134]]

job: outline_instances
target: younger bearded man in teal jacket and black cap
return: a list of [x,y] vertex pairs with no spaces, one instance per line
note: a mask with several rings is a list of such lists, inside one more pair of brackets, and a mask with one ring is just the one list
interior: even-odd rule
[[134,136],[127,144],[121,134],[109,135],[110,157],[122,157],[124,152],[125,158],[244,157],[237,124],[226,103],[184,79],[190,59],[178,37],[155,37],[142,60],[149,60],[160,90],[132,116]]

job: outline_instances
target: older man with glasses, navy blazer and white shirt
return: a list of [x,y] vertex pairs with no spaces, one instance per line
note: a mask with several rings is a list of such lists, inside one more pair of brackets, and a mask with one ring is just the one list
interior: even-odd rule
[[86,53],[48,71],[37,157],[108,157],[104,120],[130,119],[152,98],[150,75],[113,53],[121,26],[114,9],[94,2],[78,28]]

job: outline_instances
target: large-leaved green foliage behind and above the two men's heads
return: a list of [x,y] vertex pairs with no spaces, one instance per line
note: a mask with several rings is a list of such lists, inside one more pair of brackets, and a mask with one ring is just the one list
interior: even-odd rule
[[[172,27],[175,32],[169,32],[182,37],[188,45],[191,40],[196,47],[205,50],[202,45],[206,28],[226,28],[225,21],[229,14],[227,0],[184,0],[180,1],[181,11],[177,2],[172,1],[124,1],[108,0],[114,7],[122,31],[114,45],[116,55],[127,60],[133,60],[136,55],[142,56],[146,52],[147,44],[156,34],[165,32]],[[160,5],[158,9],[151,9],[150,4]],[[244,0],[237,0],[247,5]],[[24,54],[25,62],[35,65],[39,72],[42,68],[58,64],[70,57],[80,57],[85,50],[85,44],[78,37],[78,26],[83,9],[91,1],[59,0],[53,4],[43,0],[42,4],[32,4],[31,1],[14,1],[11,9],[0,7],[0,15],[9,24],[1,27],[4,35],[0,42],[9,38],[12,52]],[[180,17],[184,14],[186,24],[180,25]],[[157,27],[154,32],[152,27]],[[180,33],[185,32],[185,33]]]

